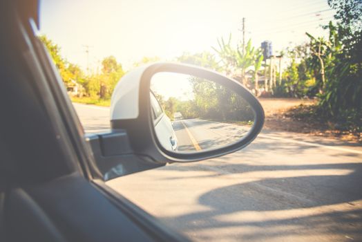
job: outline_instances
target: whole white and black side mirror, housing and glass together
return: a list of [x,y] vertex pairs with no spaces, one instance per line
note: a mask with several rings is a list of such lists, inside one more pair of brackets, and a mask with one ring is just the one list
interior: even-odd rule
[[111,128],[153,162],[190,162],[242,149],[263,127],[264,111],[244,86],[219,73],[157,63],[127,73],[111,99]]

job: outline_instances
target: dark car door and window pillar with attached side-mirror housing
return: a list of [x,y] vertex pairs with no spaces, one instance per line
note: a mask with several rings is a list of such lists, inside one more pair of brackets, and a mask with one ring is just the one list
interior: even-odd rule
[[[105,180],[242,149],[263,127],[258,100],[218,73],[196,66],[151,64],[127,73],[117,84],[111,130],[86,136],[59,73],[37,38],[38,13],[36,0],[0,2],[0,241],[187,241]],[[156,134],[160,131],[151,115],[149,89],[150,77],[162,70],[211,77],[240,93],[256,113],[253,129],[220,149],[196,153],[165,149],[161,143],[166,141]],[[124,96],[128,102],[122,102]],[[169,125],[169,120],[162,122]],[[113,176],[106,176],[110,171]]]

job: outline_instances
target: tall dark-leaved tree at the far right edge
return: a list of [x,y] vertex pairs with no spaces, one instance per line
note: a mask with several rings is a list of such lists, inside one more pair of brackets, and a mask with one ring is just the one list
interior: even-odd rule
[[356,118],[362,123],[362,2],[328,1],[336,8],[336,26],[328,26],[330,39],[326,44],[327,83],[321,94],[320,108],[325,115],[340,120]]

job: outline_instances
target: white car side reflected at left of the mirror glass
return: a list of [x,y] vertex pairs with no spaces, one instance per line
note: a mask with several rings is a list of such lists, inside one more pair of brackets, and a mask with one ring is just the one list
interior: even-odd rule
[[162,147],[166,147],[171,151],[175,151],[178,147],[178,138],[173,130],[169,117],[164,113],[162,107],[155,95],[151,92],[151,108],[153,122],[155,124],[155,132],[161,142]]

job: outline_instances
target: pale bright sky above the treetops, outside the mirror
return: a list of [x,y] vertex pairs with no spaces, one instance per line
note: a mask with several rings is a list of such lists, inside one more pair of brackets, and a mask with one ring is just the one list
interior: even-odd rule
[[[324,35],[332,19],[327,0],[48,0],[41,1],[40,33],[61,47],[61,55],[90,72],[116,57],[126,71],[142,57],[172,61],[184,52],[213,52],[218,38],[245,39],[278,51]],[[86,53],[86,46],[89,53]]]

